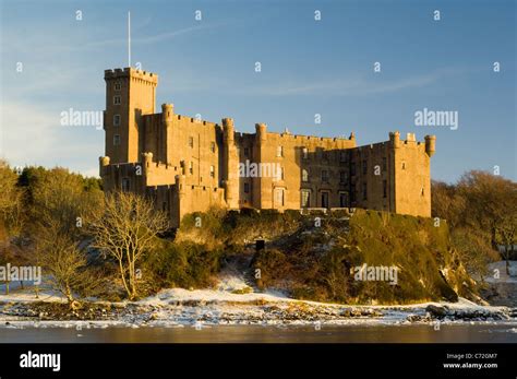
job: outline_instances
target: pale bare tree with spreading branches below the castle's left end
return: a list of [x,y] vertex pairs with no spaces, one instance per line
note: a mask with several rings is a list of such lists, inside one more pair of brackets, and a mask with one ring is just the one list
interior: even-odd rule
[[155,248],[157,236],[168,226],[166,214],[144,197],[130,192],[106,196],[105,213],[92,227],[94,246],[116,259],[130,300],[139,296],[136,264]]

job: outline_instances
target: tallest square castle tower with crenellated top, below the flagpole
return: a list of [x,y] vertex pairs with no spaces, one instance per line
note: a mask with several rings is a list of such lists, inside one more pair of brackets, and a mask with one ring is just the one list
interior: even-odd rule
[[106,70],[106,156],[111,164],[139,162],[142,115],[155,112],[158,76],[132,68]]

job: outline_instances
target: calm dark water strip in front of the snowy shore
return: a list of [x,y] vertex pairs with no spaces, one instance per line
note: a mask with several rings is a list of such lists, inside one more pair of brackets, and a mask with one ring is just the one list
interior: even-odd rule
[[407,325],[0,328],[0,343],[517,343],[516,323]]

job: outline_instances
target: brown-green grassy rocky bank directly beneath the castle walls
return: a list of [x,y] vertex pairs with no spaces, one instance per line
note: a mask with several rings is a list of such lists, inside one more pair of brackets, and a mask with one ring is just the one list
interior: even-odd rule
[[[256,238],[266,240],[250,270],[256,285],[299,299],[407,304],[455,301],[476,293],[446,223],[435,225],[431,218],[363,210],[353,215],[209,212],[187,216],[177,244],[205,241],[205,249],[228,256]],[[396,284],[356,280],[354,268],[364,263],[397,268]]]

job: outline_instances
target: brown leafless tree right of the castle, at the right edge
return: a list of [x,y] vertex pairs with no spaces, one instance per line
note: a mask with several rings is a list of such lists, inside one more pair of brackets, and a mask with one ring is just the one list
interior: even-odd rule
[[453,241],[462,262],[478,273],[494,259],[495,251],[508,259],[516,241],[517,183],[488,171],[465,173],[458,183],[433,181],[433,216],[447,218]]

